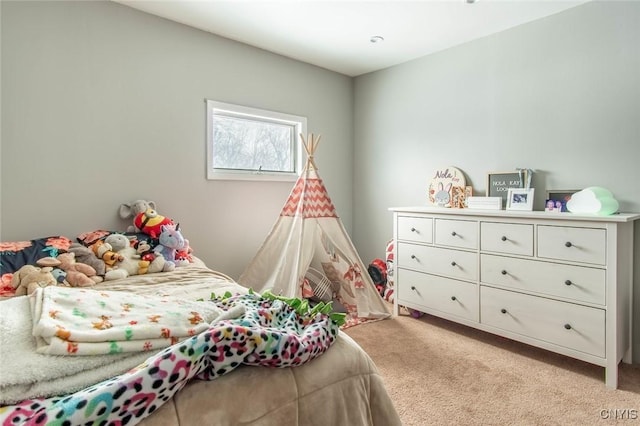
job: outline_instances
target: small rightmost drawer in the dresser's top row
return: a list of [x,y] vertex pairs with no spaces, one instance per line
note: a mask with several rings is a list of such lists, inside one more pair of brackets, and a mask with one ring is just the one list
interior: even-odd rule
[[538,257],[604,265],[607,233],[604,229],[538,226]]

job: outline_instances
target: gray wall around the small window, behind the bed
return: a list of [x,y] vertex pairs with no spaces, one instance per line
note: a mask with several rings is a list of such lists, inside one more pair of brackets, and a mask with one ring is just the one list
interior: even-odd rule
[[306,116],[351,228],[351,78],[117,3],[1,7],[0,240],[123,230],[144,198],[237,278],[292,183],[205,180],[205,98]]

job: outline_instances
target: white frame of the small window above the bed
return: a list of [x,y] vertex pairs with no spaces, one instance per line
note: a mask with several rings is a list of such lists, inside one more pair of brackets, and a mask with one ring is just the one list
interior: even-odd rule
[[[256,180],[256,181],[295,181],[302,172],[302,142],[300,135],[307,134],[307,118],[269,111],[259,108],[251,108],[242,105],[234,105],[224,102],[206,99],[207,104],[207,179],[209,180]],[[244,119],[287,124],[294,126],[294,172],[266,172],[261,170],[246,169],[219,169],[213,166],[213,118],[219,114],[226,117],[241,117]]]

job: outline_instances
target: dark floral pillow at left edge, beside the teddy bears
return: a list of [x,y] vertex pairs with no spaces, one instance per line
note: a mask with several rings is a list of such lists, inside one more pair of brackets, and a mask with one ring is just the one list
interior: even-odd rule
[[0,276],[13,274],[24,265],[35,265],[43,257],[57,257],[69,250],[71,240],[53,236],[30,241],[0,242]]

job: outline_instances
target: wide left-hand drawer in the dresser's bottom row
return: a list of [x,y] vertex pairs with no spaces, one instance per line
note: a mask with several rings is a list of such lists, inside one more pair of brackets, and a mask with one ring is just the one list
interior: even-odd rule
[[462,281],[398,269],[398,303],[406,302],[478,321],[478,287]]

